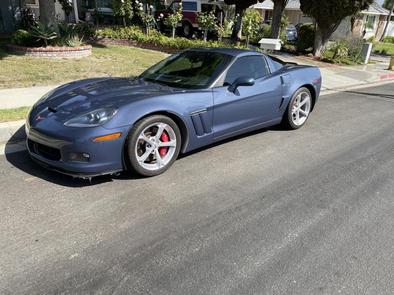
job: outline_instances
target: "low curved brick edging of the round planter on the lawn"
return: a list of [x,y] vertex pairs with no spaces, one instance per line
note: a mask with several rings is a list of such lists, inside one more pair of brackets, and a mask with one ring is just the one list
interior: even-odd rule
[[82,58],[92,54],[92,45],[78,47],[24,47],[7,45],[8,50],[17,55],[46,58]]

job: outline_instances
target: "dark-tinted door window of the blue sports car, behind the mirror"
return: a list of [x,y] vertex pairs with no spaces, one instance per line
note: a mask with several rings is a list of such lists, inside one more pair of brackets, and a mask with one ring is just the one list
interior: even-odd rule
[[258,79],[268,74],[268,67],[262,56],[243,57],[235,60],[231,65],[224,83],[230,85],[241,76]]

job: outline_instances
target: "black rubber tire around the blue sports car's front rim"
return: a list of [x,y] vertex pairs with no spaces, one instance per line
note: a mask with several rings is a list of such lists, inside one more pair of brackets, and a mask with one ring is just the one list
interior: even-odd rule
[[[148,127],[151,124],[154,123],[159,123],[163,122],[165,124],[168,124],[172,130],[175,133],[176,136],[176,147],[175,147],[175,152],[172,156],[172,158],[166,163],[162,168],[157,169],[157,170],[148,170],[143,168],[137,161],[136,155],[135,155],[135,148],[136,144],[138,141],[138,137],[141,134],[142,131],[146,127]],[[145,118],[140,119],[138,122],[132,125],[129,134],[126,139],[126,155],[128,157],[127,163],[127,168],[130,169],[131,171],[140,174],[142,176],[156,176],[159,174],[162,174],[164,171],[166,171],[168,168],[171,167],[171,165],[175,162],[176,158],[178,157],[179,151],[181,149],[181,132],[179,130],[179,127],[177,124],[171,119],[163,115],[152,115],[148,116]]]

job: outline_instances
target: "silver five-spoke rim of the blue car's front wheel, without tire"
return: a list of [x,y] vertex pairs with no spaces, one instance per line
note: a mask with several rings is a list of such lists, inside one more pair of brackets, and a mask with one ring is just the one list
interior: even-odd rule
[[[169,141],[160,140],[163,132]],[[163,156],[160,156],[160,148],[167,148]],[[138,136],[135,145],[135,156],[141,167],[147,170],[163,168],[174,156],[176,149],[176,135],[174,130],[165,123],[158,122],[146,127]]]

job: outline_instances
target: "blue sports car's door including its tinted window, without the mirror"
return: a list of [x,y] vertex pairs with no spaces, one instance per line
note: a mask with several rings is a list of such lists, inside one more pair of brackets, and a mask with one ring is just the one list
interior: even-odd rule
[[[255,84],[229,91],[229,85],[238,77],[252,77]],[[223,86],[212,90],[214,138],[272,120],[282,98],[280,77],[269,73],[263,56],[236,59],[226,73]]]

